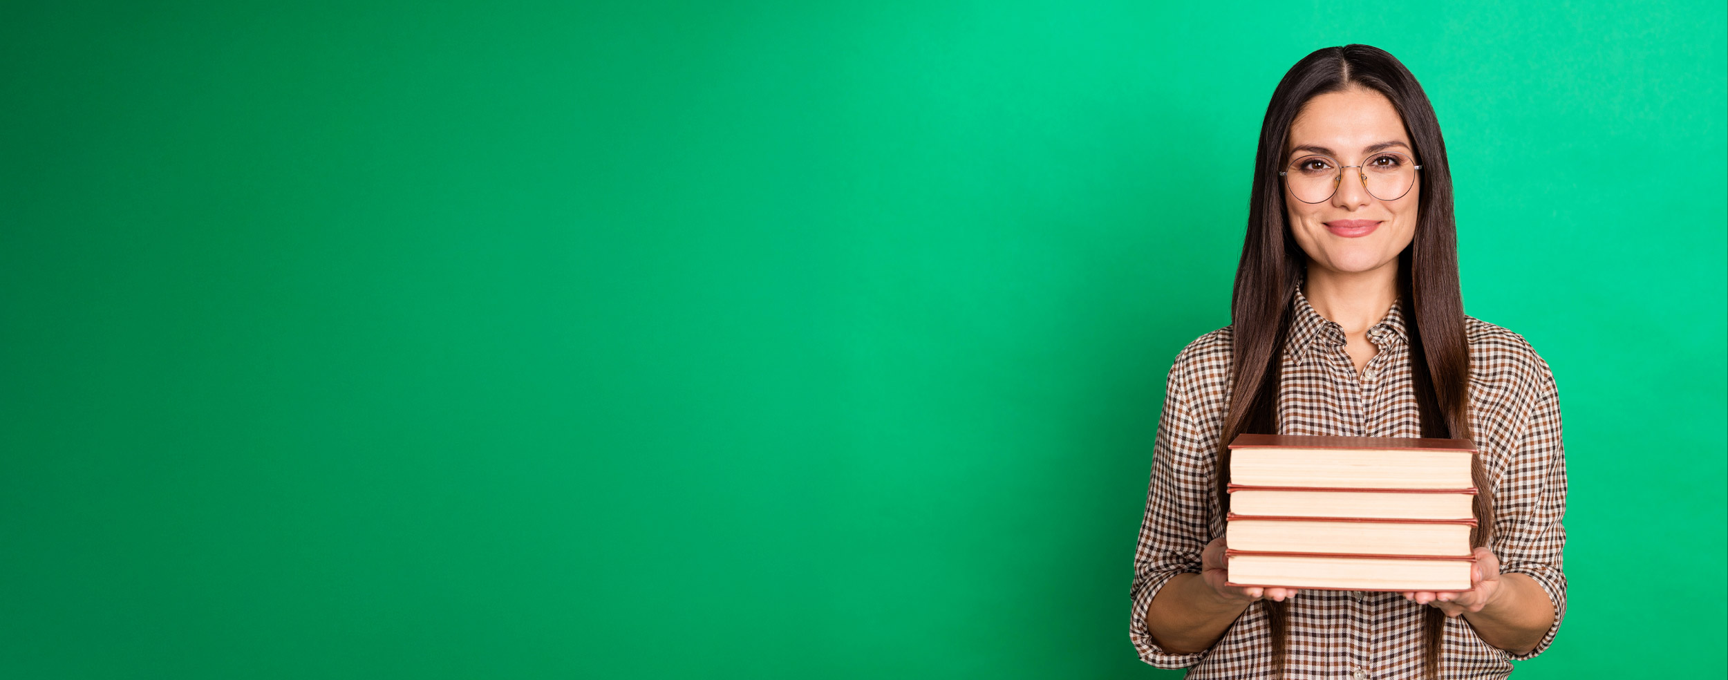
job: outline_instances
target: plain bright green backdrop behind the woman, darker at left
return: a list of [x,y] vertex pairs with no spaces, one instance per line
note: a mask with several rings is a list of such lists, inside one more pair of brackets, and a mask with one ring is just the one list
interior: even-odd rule
[[[1534,5],[1534,3],[1533,3]],[[1566,416],[1519,677],[1721,677],[1725,7],[31,3],[0,675],[1130,678],[1282,72],[1424,83]]]

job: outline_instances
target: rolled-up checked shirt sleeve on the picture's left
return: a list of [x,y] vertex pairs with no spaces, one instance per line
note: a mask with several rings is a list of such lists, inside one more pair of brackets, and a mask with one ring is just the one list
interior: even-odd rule
[[[1185,354],[1185,352],[1184,352]],[[1199,663],[1206,652],[1166,652],[1146,630],[1146,609],[1158,590],[1178,573],[1201,571],[1201,551],[1210,542],[1211,487],[1215,456],[1206,437],[1189,411],[1187,381],[1182,375],[1184,357],[1178,356],[1165,387],[1165,407],[1158,418],[1158,437],[1153,445],[1153,478],[1146,492],[1146,516],[1140,521],[1140,540],[1134,554],[1134,583],[1130,587],[1132,620],[1128,639],[1146,661],[1158,668],[1187,668]]]

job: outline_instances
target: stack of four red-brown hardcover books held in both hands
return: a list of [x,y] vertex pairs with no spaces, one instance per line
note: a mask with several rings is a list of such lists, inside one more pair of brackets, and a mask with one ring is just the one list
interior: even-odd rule
[[1457,438],[1236,437],[1229,585],[1469,590],[1472,456]]

